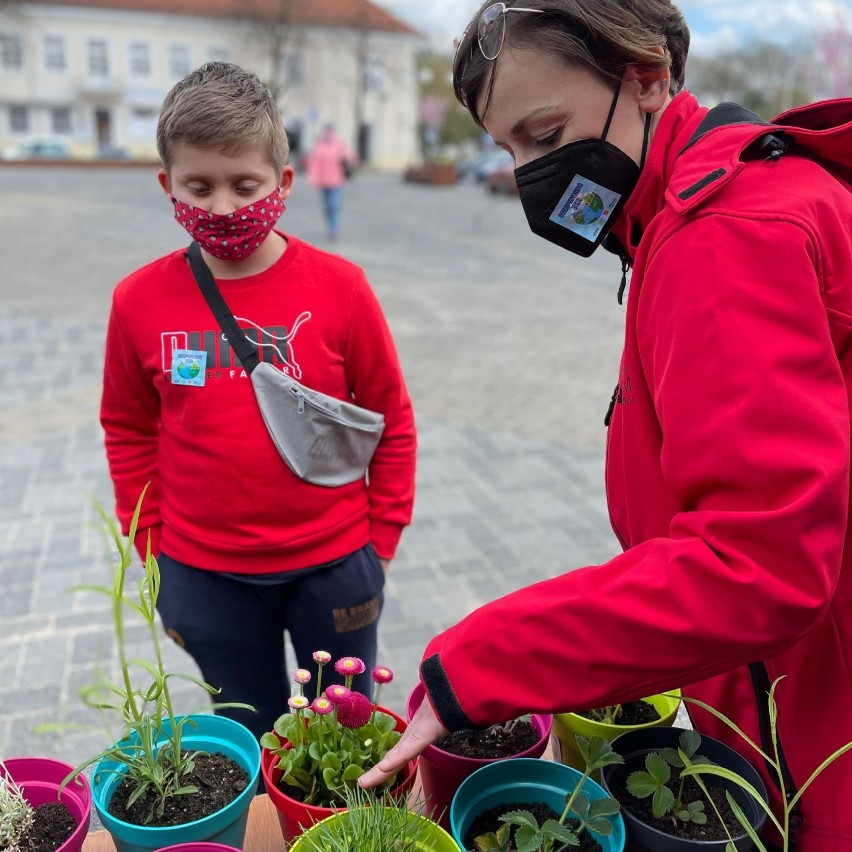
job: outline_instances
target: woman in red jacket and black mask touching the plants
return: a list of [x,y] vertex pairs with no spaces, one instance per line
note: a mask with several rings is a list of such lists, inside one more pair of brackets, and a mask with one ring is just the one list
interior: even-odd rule
[[[606,418],[624,552],[433,639],[429,700],[364,786],[448,730],[675,687],[771,753],[780,677],[790,797],[852,741],[852,193],[806,155],[849,174],[852,99],[781,132],[707,130],[688,45],[669,0],[521,0],[484,6],[458,47],[456,94],[513,155],[533,232],[581,256],[606,241],[633,269]],[[688,709],[757,764],[780,815],[763,762]],[[797,852],[852,849],[850,801],[846,755],[804,790]]]

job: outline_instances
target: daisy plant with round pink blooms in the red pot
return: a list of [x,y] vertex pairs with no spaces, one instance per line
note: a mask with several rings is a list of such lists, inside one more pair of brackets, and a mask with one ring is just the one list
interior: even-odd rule
[[[362,660],[343,657],[334,668],[344,677],[342,685],[321,691],[323,667],[331,662],[327,651],[315,651],[317,698],[308,701],[304,685],[311,680],[307,669],[293,675],[295,694],[289,699],[290,712],[280,716],[274,730],[261,737],[260,744],[277,758],[282,771],[281,784],[300,792],[301,800],[316,807],[336,807],[345,803],[347,791],[368,769],[375,766],[396,744],[401,734],[396,720],[378,710],[380,687],[390,683],[393,672],[384,666],[372,671],[376,691],[373,702],[352,689],[352,679],[365,671]],[[380,788],[389,789],[396,777]]]

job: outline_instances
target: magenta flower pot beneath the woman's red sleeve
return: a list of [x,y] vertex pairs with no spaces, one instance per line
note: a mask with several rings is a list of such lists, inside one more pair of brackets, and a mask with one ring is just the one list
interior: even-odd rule
[[[406,714],[410,722],[417,708],[423,703],[426,690],[422,683],[411,691],[406,704]],[[550,738],[550,729],[553,725],[553,717],[543,713],[533,713],[530,719],[533,728],[538,731],[538,740],[535,745],[511,757],[541,757]],[[480,760],[473,757],[461,757],[450,754],[437,746],[428,745],[417,765],[420,770],[420,784],[423,788],[423,797],[426,799],[427,814],[432,819],[447,829],[450,827],[450,804],[459,785],[469,775],[488,764],[508,758],[494,758]]]

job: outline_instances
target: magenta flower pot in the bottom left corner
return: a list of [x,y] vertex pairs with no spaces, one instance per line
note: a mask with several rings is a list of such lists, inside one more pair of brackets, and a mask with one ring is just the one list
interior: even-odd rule
[[86,777],[81,775],[76,781],[69,782],[57,798],[59,785],[74,771],[73,766],[48,757],[10,757],[4,764],[9,777],[34,808],[56,801],[68,808],[77,828],[57,852],[80,852],[89,832],[92,813],[92,791]]

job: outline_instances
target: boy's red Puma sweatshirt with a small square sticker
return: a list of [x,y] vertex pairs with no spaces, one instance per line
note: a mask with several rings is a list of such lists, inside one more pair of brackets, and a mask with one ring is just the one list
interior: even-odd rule
[[[184,249],[133,273],[113,296],[101,423],[118,517],[126,533],[152,481],[140,529],[151,529],[155,553],[198,568],[287,571],[369,541],[391,558],[411,520],[414,419],[378,300],[358,267],[286,239],[266,271],[217,284],[261,358],[384,414],[369,482],[326,488],[289,470]],[[203,386],[171,381],[175,349],[207,353]]]

